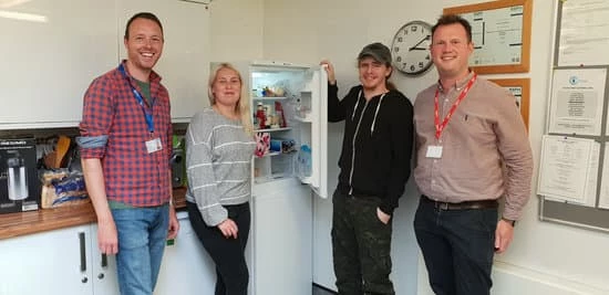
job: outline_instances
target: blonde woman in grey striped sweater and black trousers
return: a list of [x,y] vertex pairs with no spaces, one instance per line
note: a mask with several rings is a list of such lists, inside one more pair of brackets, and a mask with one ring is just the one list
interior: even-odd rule
[[256,144],[241,75],[230,64],[211,72],[209,102],[211,106],[193,117],[186,133],[188,217],[216,263],[216,295],[246,295]]

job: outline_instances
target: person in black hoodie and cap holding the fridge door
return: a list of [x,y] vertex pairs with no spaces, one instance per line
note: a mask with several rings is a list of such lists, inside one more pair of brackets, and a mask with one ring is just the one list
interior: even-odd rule
[[389,82],[391,52],[372,43],[358,55],[361,85],[338,97],[328,72],[328,120],[344,120],[339,185],[332,197],[332,254],[339,294],[395,294],[392,215],[410,177],[413,107]]

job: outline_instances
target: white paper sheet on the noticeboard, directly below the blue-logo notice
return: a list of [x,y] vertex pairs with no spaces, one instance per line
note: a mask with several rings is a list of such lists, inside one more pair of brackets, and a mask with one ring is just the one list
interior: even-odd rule
[[545,135],[537,193],[595,207],[600,145],[592,139]]

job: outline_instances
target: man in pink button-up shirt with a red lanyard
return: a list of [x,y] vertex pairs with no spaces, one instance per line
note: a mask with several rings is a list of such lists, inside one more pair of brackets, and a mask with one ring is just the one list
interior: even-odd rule
[[430,50],[440,78],[414,104],[416,240],[436,294],[489,294],[494,253],[508,247],[530,198],[526,127],[514,96],[468,69],[466,20],[441,17]]

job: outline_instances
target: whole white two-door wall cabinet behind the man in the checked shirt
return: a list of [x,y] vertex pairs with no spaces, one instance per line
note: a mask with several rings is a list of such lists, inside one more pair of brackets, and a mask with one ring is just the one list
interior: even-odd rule
[[169,91],[172,118],[188,122],[208,105],[209,10],[203,3],[53,0],[1,8],[0,34],[10,42],[0,46],[0,129],[76,126],[84,92],[124,59],[126,20],[140,11],[154,12],[164,25],[155,70]]

